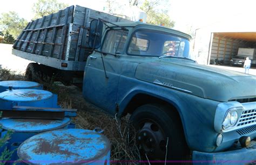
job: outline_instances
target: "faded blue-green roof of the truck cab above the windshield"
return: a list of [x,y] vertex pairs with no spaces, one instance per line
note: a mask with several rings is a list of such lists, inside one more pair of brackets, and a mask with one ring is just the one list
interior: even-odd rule
[[[186,34],[186,33],[183,33],[183,32],[180,32],[180,31],[177,31],[177,30],[173,30],[171,28],[168,28],[168,27],[165,27],[165,26],[158,26],[158,25],[151,25],[151,24],[146,24],[146,23],[142,23],[140,21],[136,21],[136,22],[133,22],[133,21],[127,21],[127,22],[116,22],[116,23],[113,23],[113,24],[116,24],[118,26],[122,26],[122,27],[136,27],[136,26],[143,26],[147,29],[151,29],[151,30],[158,30],[158,31],[163,31],[163,32],[167,32],[167,33],[173,33],[173,34],[176,34],[176,35],[180,35],[181,37],[185,37],[187,38],[188,40],[191,39],[191,36]],[[113,24],[107,24],[107,26],[110,26],[110,27],[117,27]]]

